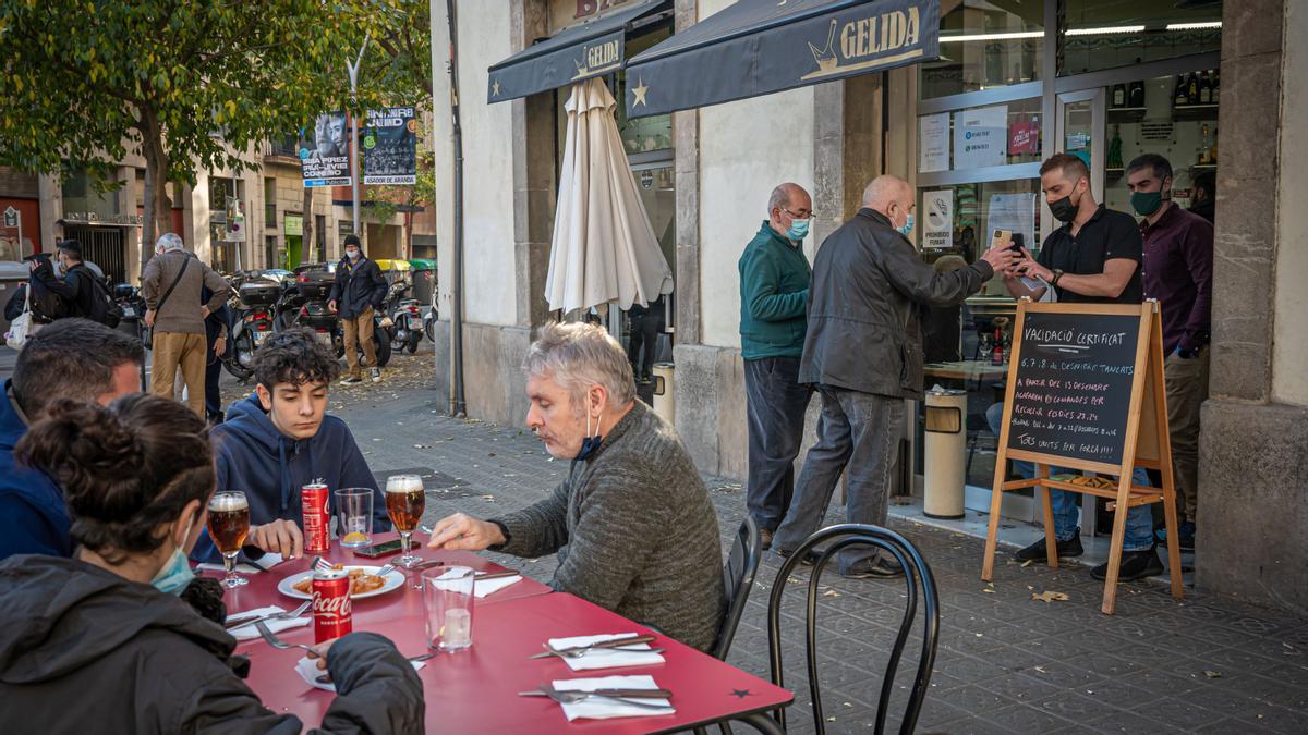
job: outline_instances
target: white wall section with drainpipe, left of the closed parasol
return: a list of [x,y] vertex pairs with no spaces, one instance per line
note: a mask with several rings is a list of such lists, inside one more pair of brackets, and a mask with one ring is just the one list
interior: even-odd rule
[[[442,316],[450,314],[454,277],[454,146],[450,42],[445,3],[432,3],[436,101],[436,208]],[[459,93],[463,128],[463,306],[472,323],[511,326],[517,320],[513,243],[513,102],[487,103],[487,68],[509,56],[510,4],[458,3]]]

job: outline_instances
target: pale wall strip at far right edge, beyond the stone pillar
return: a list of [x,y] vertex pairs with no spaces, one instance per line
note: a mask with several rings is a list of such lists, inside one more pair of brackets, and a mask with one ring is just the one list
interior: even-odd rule
[[1277,222],[1277,297],[1273,324],[1271,398],[1308,405],[1308,212],[1296,205],[1308,190],[1308,149],[1298,120],[1308,99],[1308,50],[1291,33],[1308,24],[1308,5],[1286,3],[1286,43],[1281,61],[1281,182]]

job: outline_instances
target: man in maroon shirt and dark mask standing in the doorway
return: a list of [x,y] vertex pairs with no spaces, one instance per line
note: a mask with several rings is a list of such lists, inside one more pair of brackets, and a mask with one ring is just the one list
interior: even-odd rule
[[[1193,549],[1199,405],[1209,396],[1213,224],[1172,201],[1172,165],[1162,156],[1146,153],[1133,160],[1126,167],[1126,187],[1135,213],[1144,217],[1144,297],[1156,298],[1163,309],[1167,421],[1185,514],[1177,536],[1182,549]],[[1165,540],[1164,531],[1159,536]]]

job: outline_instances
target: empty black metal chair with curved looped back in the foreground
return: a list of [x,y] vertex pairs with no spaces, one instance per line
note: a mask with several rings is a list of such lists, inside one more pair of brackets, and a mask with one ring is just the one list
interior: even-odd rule
[[[827,566],[827,562],[831,561],[836,552],[850,545],[865,545],[882,549],[895,557],[900,566],[904,568],[904,578],[908,586],[904,620],[900,623],[899,636],[895,638],[895,646],[891,649],[889,662],[886,667],[886,676],[882,679],[882,696],[876,705],[875,732],[878,734],[886,731],[886,714],[889,708],[891,691],[895,687],[895,674],[899,671],[900,658],[904,653],[904,645],[908,642],[909,630],[912,630],[913,623],[917,619],[918,585],[921,585],[922,596],[926,600],[926,623],[922,630],[922,654],[918,659],[917,676],[913,680],[913,689],[909,693],[908,709],[904,713],[903,722],[900,723],[900,732],[908,735],[913,732],[913,728],[917,726],[918,714],[922,711],[922,700],[926,697],[927,685],[931,680],[931,666],[935,663],[935,646],[940,630],[940,611],[939,599],[935,591],[935,579],[931,577],[931,568],[922,560],[922,555],[917,551],[917,547],[895,531],[880,528],[878,526],[842,523],[818,531],[812,536],[808,536],[808,539],[806,539],[798,549],[791,552],[790,557],[786,558],[785,564],[781,565],[781,570],[777,573],[777,581],[772,586],[772,595],[768,600],[768,649],[770,651],[772,683],[778,687],[785,687],[781,674],[781,595],[789,586],[786,585],[786,578],[790,577],[795,565],[804,558],[810,549],[823,543],[827,543],[828,545],[821,552],[821,556],[814,565],[812,573],[808,578],[808,604],[804,613],[806,645],[808,654],[808,692],[812,696],[814,726],[819,734],[827,731],[824,727],[825,719],[823,718],[821,709],[821,691],[818,684],[816,616],[819,578],[821,577],[821,572]],[[785,710],[776,710],[773,717],[782,727],[786,726]]]

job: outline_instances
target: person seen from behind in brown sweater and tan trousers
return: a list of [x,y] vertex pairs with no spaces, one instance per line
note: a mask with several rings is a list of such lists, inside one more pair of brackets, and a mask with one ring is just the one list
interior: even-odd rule
[[[211,298],[201,305],[200,289]],[[213,268],[186,251],[182,238],[160,235],[154,258],[141,273],[145,326],[153,330],[150,392],[175,398],[178,368],[186,383],[187,405],[204,419],[204,364],[209,349],[204,320],[221,309],[232,288]]]

